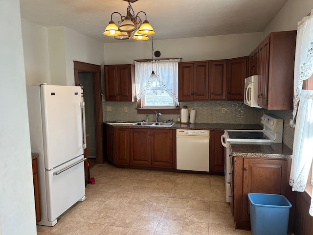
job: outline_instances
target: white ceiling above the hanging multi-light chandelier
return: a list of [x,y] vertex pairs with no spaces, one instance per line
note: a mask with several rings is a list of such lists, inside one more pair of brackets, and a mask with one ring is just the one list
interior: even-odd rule
[[[287,0],[138,0],[155,40],[260,32]],[[103,43],[125,42],[103,35],[114,11],[126,15],[124,0],[20,0],[21,17],[45,27],[66,26]],[[144,14],[140,13],[139,16]],[[112,19],[118,22],[117,14]],[[130,39],[129,41],[134,41]]]

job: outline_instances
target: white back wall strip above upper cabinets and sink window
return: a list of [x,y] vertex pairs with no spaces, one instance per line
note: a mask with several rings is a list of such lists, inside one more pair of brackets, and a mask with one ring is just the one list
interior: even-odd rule
[[[263,33],[244,33],[211,37],[154,40],[159,58],[182,58],[181,61],[218,60],[249,55],[262,41]],[[151,59],[149,41],[130,40],[125,43],[106,43],[105,64],[133,64],[134,59]]]

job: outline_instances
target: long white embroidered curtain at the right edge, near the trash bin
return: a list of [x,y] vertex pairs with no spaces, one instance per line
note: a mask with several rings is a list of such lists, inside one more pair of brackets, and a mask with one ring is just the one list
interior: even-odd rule
[[[293,191],[305,190],[313,161],[313,91],[302,90],[303,80],[313,74],[313,10],[311,16],[298,22],[295,64],[293,118],[297,113],[290,185]],[[300,100],[298,111],[297,104]],[[313,185],[313,178],[311,178]],[[313,192],[312,192],[313,193]],[[313,216],[313,199],[309,210]]]

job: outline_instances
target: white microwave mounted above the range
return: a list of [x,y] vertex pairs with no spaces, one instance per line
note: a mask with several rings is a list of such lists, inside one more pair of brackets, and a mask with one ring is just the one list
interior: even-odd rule
[[253,75],[245,79],[244,103],[253,108],[261,108],[258,105],[258,78],[258,75]]

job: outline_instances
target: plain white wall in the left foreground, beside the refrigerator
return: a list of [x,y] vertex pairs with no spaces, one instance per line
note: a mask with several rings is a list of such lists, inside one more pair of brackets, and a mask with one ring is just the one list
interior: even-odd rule
[[0,28],[0,234],[35,235],[19,0],[1,0]]

